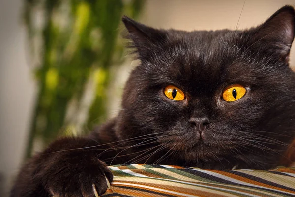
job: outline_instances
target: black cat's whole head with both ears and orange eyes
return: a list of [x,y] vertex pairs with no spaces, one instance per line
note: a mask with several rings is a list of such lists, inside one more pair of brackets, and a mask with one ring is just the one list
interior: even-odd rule
[[190,162],[229,155],[277,162],[295,137],[292,7],[246,31],[156,30],[126,17],[123,22],[141,64],[124,90],[121,136],[165,135],[159,143]]

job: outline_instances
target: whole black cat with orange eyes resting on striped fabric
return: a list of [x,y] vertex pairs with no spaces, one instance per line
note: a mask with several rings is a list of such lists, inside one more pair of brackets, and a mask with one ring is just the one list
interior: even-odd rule
[[158,30],[122,20],[141,64],[126,83],[118,117],[32,157],[11,197],[94,197],[92,184],[103,194],[106,178],[112,182],[110,164],[279,164],[295,138],[293,7],[245,31]]

